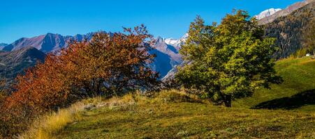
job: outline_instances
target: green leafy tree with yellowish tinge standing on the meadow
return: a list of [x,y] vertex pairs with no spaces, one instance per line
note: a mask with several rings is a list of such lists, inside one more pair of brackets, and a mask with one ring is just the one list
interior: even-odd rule
[[226,15],[221,24],[205,25],[197,17],[180,53],[189,64],[175,78],[185,88],[230,107],[235,98],[251,96],[255,89],[281,83],[274,70],[274,38],[247,12]]

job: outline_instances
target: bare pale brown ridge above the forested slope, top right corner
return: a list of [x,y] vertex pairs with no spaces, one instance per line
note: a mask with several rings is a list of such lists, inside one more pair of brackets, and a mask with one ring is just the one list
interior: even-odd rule
[[314,3],[314,2],[315,2],[315,0],[305,0],[305,1],[300,1],[300,2],[294,3],[293,5],[285,8],[284,10],[279,10],[276,13],[274,13],[273,15],[270,15],[268,17],[260,19],[258,22],[259,22],[259,24],[268,24],[270,22],[273,22],[274,19],[277,19],[278,17],[283,17],[286,15],[289,15],[293,11],[297,10],[298,8],[301,8],[303,6],[306,6],[309,3]]

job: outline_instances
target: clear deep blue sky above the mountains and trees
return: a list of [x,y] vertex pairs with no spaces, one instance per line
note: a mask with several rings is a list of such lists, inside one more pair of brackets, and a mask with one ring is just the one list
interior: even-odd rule
[[233,8],[256,15],[268,8],[286,8],[299,0],[1,0],[0,42],[45,33],[75,35],[92,31],[122,31],[145,24],[149,33],[180,38],[201,15],[219,22]]

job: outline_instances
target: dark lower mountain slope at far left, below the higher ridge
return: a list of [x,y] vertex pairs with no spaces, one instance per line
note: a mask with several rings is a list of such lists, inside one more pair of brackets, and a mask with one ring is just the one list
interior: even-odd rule
[[15,51],[0,51],[0,79],[13,79],[27,67],[45,60],[45,54],[34,47],[24,47]]

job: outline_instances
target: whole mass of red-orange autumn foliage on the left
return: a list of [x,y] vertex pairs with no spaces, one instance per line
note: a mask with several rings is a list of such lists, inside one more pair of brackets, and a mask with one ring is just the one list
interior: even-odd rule
[[124,30],[71,42],[58,54],[49,54],[45,63],[17,76],[16,91],[1,106],[0,122],[6,126],[1,128],[2,136],[23,131],[36,115],[85,97],[110,97],[154,86],[158,74],[148,67],[154,58],[148,53],[152,36],[145,26]]

